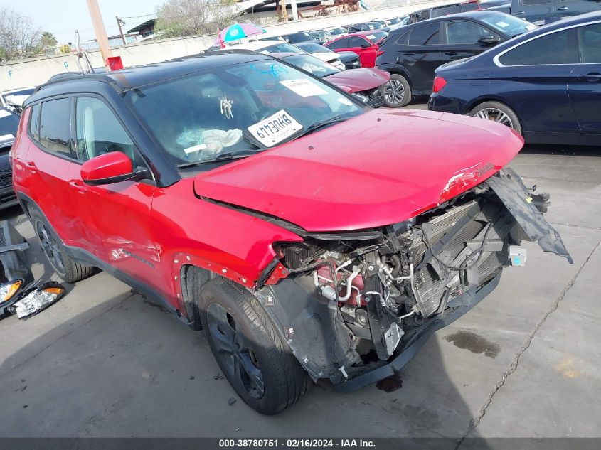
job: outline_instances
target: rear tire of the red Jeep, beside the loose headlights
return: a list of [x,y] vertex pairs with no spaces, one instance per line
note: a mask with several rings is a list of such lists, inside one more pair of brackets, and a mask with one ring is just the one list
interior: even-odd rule
[[30,218],[46,259],[61,279],[75,283],[92,274],[94,267],[80,264],[67,255],[63,241],[36,208],[30,208]]

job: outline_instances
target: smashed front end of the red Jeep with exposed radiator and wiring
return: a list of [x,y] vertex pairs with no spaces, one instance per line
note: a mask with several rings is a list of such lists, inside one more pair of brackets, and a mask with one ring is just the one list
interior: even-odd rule
[[548,195],[505,169],[387,227],[275,245],[287,279],[257,296],[307,373],[353,390],[400,370],[430,334],[488,295],[521,240],[571,262],[543,218]]

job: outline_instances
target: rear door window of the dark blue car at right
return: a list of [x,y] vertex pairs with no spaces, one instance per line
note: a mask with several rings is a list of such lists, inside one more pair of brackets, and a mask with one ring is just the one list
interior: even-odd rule
[[557,31],[533,39],[504,55],[499,56],[503,65],[552,65],[578,63],[578,43],[574,29]]

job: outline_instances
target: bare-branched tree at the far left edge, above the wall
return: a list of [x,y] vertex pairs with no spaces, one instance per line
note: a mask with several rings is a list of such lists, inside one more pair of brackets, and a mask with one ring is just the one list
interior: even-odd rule
[[32,58],[40,53],[41,29],[28,16],[0,9],[0,61]]

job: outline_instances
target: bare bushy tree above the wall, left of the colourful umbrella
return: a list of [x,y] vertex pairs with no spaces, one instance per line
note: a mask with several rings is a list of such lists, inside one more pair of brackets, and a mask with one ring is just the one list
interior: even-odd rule
[[165,38],[215,33],[240,13],[232,0],[167,0],[156,9],[155,33]]

